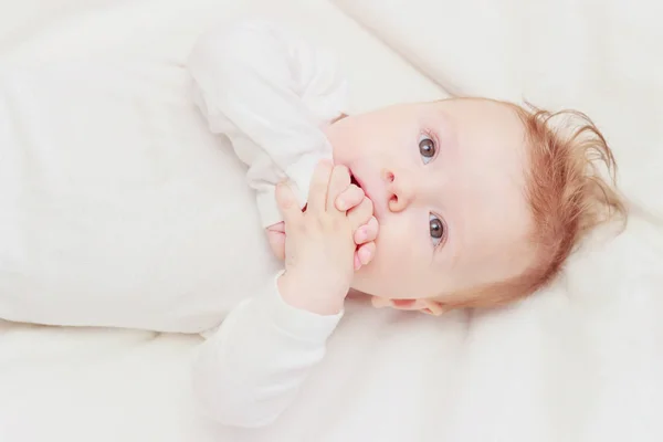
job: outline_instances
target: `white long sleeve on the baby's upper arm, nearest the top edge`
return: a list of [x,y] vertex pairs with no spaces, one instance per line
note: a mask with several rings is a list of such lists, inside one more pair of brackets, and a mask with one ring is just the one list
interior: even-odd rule
[[315,165],[332,158],[322,126],[345,112],[346,81],[333,56],[253,20],[203,34],[188,67],[210,130],[228,136],[249,166],[263,227],[282,221],[278,181],[290,180],[304,207]]

